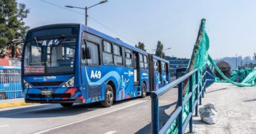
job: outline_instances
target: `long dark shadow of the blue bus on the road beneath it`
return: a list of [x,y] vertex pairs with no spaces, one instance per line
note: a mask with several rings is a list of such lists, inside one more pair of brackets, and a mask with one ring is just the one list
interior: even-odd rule
[[[133,98],[138,99],[138,98]],[[133,99],[117,101],[114,105],[125,103]],[[108,109],[100,105],[100,103],[77,104],[70,108],[64,108],[59,104],[37,105],[34,107],[24,107],[11,110],[1,110],[0,118],[53,118],[61,116],[74,116],[85,112],[90,112],[98,109]]]

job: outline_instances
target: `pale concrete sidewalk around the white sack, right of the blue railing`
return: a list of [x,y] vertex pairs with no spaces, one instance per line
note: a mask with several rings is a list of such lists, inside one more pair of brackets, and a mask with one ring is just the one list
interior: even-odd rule
[[194,133],[256,133],[255,87],[215,83],[207,88],[202,99],[203,105],[207,103],[215,103],[217,123],[208,125],[200,120],[200,116],[193,116]]

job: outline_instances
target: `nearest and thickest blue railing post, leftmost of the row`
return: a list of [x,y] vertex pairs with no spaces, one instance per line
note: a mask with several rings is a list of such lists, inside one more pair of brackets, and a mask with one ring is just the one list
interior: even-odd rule
[[159,108],[158,108],[158,97],[151,99],[151,128],[152,134],[159,133]]

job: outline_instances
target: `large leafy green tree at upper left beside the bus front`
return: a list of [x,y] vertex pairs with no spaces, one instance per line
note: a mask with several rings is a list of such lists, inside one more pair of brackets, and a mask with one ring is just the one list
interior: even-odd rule
[[23,21],[30,10],[23,3],[16,0],[0,0],[0,56],[5,56],[5,50],[20,47],[22,41],[16,43],[16,39],[24,39],[26,31],[30,28]]

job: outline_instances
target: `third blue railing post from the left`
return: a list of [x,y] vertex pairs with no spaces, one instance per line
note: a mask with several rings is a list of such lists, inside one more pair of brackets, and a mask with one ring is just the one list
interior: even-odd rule
[[[193,114],[193,75],[189,77],[189,92],[192,93],[190,99],[189,99],[189,112]],[[193,124],[192,124],[192,117],[189,120],[189,133],[192,133],[193,131]]]

